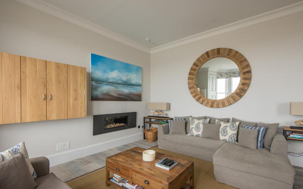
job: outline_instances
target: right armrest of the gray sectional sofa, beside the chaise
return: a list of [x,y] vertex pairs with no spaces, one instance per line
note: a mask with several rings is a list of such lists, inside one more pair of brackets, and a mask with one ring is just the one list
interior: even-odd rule
[[287,141],[283,135],[275,135],[271,143],[270,153],[287,157]]

